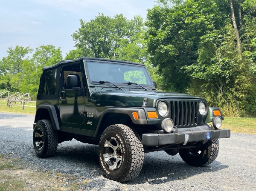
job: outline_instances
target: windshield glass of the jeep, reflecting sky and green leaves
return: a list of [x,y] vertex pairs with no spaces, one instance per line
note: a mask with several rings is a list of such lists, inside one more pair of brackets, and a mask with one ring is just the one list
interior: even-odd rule
[[87,62],[90,82],[108,81],[111,83],[137,83],[151,86],[151,78],[143,66],[118,63]]

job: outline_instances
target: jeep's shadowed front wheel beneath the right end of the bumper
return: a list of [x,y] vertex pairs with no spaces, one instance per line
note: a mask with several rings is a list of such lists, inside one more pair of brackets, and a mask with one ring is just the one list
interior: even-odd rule
[[218,156],[219,141],[208,140],[200,148],[185,148],[179,151],[184,162],[191,166],[206,166],[211,164]]

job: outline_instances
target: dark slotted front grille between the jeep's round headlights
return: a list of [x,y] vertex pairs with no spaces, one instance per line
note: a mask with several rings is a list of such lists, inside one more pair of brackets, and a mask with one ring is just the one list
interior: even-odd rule
[[196,101],[171,101],[170,110],[175,126],[197,125],[198,103]]

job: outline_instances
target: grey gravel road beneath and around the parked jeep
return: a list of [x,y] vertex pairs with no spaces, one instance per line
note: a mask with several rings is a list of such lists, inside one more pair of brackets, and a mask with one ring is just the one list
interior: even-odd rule
[[58,145],[55,157],[36,157],[33,121],[33,115],[0,113],[0,154],[13,153],[35,171],[90,180],[86,191],[256,191],[256,135],[231,133],[231,138],[220,139],[218,157],[206,167],[189,166],[178,154],[169,156],[164,151],[145,154],[140,175],[119,183],[102,176],[96,145],[66,141]]

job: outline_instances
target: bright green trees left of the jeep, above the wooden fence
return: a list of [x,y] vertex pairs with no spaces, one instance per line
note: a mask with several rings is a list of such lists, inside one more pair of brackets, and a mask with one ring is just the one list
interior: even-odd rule
[[44,66],[52,66],[62,60],[61,49],[52,45],[32,49],[16,46],[9,48],[7,57],[0,61],[0,89],[30,93],[36,98],[39,80]]

